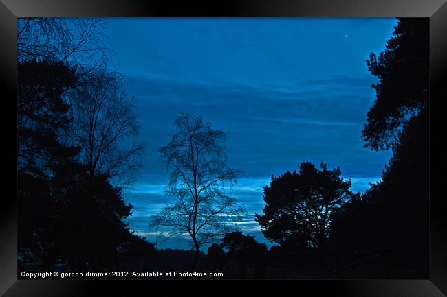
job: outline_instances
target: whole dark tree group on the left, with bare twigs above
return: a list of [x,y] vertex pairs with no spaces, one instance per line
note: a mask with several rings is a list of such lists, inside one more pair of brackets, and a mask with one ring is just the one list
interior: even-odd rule
[[[94,145],[105,143],[100,147],[102,158],[95,159],[103,163],[111,156],[121,156],[121,163],[126,163],[142,150],[137,146],[129,153],[118,141],[136,135],[138,127],[122,88],[121,97],[107,94],[101,98],[109,104],[103,105],[102,115],[117,110],[129,114],[120,117],[116,126],[107,126],[113,136],[105,134],[107,119],[97,109],[82,110],[91,120],[85,126],[74,108],[75,102],[92,107],[91,97],[81,94],[111,81],[110,75],[104,75],[105,64],[91,64],[91,57],[104,56],[96,40],[102,24],[96,19],[19,20],[17,166],[19,261],[23,265],[98,268],[116,263],[120,254],[132,250],[154,250],[153,244],[129,230],[126,219],[133,206],[124,203],[122,187],[111,179],[120,173],[92,170],[92,162],[85,158],[85,140],[73,137],[74,128],[78,133],[90,131],[89,135],[98,128],[99,136],[94,134],[89,140]],[[101,75],[92,79],[93,73]],[[131,132],[124,124],[131,126]],[[120,154],[122,150],[125,154]]]

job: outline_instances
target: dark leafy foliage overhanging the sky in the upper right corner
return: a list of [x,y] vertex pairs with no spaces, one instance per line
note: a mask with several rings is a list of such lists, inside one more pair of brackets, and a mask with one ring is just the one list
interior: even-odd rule
[[370,54],[367,66],[379,82],[362,130],[365,147],[390,148],[403,123],[427,107],[429,37],[427,19],[402,18],[385,51]]

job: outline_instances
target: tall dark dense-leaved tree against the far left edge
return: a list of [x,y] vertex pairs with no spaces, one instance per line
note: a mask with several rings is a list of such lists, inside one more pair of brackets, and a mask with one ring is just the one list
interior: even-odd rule
[[61,141],[71,123],[65,89],[76,84],[74,69],[62,62],[27,60],[18,64],[17,132],[19,253],[45,267],[56,261],[52,168],[72,160],[77,147]]

